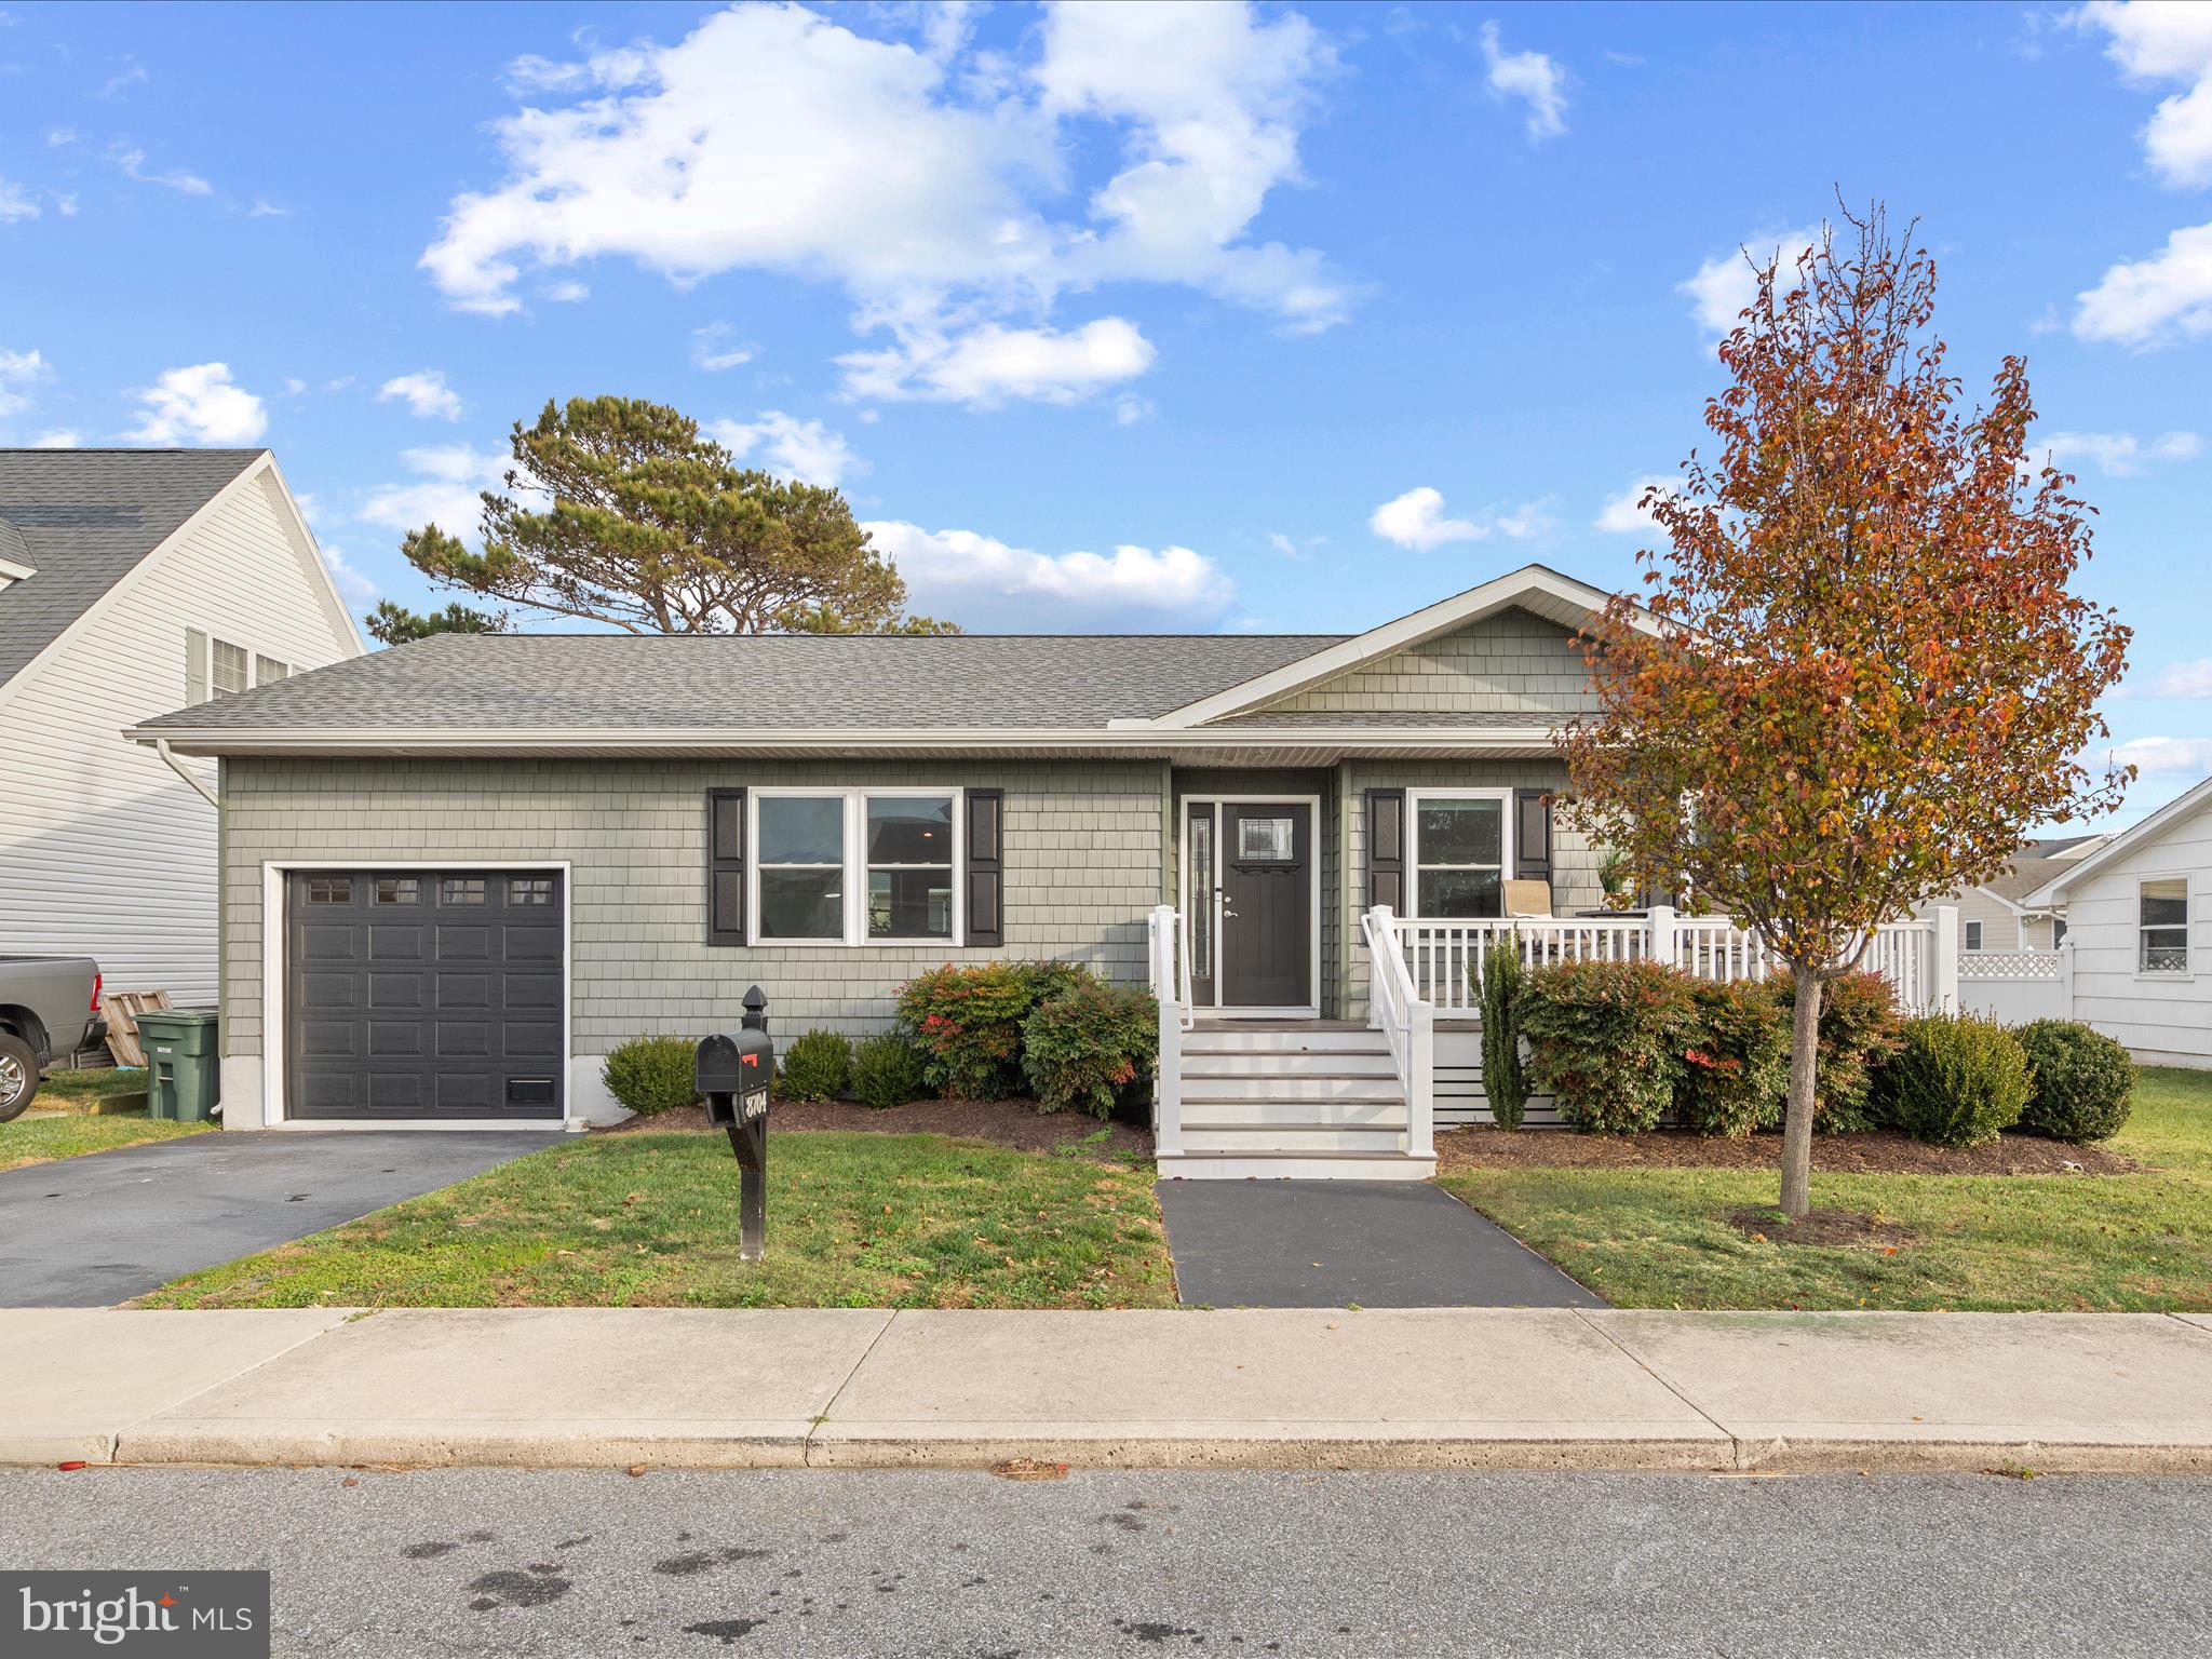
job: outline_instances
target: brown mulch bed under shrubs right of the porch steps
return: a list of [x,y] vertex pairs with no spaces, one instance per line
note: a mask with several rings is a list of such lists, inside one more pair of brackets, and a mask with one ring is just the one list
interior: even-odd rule
[[[1781,1137],[1730,1141],[1659,1128],[1650,1135],[1577,1135],[1566,1128],[1455,1128],[1436,1137],[1436,1168],[1451,1170],[1774,1170]],[[2000,1135],[1989,1146],[1927,1146],[1878,1128],[1814,1135],[1812,1166],[1832,1175],[2130,1175],[2132,1157],[2037,1135]]]

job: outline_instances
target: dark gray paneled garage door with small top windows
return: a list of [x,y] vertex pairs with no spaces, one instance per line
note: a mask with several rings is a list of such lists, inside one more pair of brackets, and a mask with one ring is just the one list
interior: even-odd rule
[[290,1117],[560,1117],[551,869],[301,869],[285,925]]

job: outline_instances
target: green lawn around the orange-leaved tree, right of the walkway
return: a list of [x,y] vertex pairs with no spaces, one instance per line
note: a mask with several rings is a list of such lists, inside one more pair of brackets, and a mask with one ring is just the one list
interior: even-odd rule
[[2141,1175],[1820,1175],[1816,1208],[1916,1239],[1754,1241],[1750,1170],[1455,1170],[1442,1183],[1617,1307],[2212,1310],[2212,1073],[2146,1071],[2112,1150]]

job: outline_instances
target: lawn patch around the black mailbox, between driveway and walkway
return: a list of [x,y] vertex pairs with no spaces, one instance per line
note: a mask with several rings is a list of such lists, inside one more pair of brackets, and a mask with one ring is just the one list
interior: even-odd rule
[[591,1135],[177,1279],[144,1307],[1170,1307],[1150,1166],[787,1133],[768,1259],[721,1135]]

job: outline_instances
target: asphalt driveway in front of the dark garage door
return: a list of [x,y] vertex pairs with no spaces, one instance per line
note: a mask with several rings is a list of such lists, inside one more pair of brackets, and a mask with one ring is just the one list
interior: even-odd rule
[[104,1307],[524,1152],[542,1130],[186,1135],[0,1172],[0,1307]]

